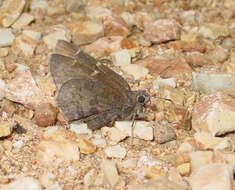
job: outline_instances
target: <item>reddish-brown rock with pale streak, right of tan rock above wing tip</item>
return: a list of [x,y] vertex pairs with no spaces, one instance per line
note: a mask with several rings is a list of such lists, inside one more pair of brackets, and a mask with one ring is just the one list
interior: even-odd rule
[[127,23],[114,15],[104,17],[103,25],[105,36],[127,36],[130,33]]

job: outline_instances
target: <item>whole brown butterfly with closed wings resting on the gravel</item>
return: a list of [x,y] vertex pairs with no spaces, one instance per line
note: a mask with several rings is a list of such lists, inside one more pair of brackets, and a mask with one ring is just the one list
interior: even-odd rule
[[98,129],[116,120],[135,119],[150,100],[146,91],[132,91],[116,72],[59,40],[50,58],[57,87],[57,106],[68,121],[81,120]]

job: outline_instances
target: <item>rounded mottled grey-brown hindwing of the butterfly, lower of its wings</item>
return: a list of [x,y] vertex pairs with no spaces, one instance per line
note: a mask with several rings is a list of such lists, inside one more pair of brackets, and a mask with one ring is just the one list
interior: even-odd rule
[[79,78],[62,85],[56,102],[65,117],[72,121],[121,110],[125,99],[113,88],[99,81]]

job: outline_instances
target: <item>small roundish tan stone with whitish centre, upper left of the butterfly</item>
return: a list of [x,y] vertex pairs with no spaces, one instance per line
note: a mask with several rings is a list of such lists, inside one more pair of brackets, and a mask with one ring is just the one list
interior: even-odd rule
[[12,48],[16,53],[22,53],[26,57],[31,57],[34,54],[36,43],[28,36],[20,35],[16,37]]

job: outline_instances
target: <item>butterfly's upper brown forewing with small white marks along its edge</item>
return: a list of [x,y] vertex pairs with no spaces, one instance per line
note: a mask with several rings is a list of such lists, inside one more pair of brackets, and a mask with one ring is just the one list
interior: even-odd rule
[[67,80],[85,76],[102,81],[121,92],[130,91],[128,83],[120,75],[77,49],[73,44],[59,40],[56,52],[50,58],[50,72],[58,89]]

